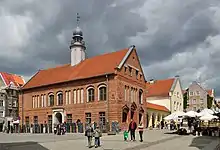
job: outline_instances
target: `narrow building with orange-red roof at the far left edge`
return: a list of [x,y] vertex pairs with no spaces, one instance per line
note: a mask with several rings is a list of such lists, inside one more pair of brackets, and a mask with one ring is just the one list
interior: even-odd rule
[[0,72],[0,131],[3,127],[19,123],[18,94],[24,83],[21,76]]

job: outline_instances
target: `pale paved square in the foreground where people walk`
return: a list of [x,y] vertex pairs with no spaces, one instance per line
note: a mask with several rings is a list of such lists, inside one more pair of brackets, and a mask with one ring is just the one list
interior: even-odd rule
[[[212,150],[219,143],[216,137],[178,136],[169,131],[146,130],[144,142],[124,142],[123,135],[101,138],[97,150]],[[136,134],[138,136],[138,134]],[[88,150],[84,134],[4,134],[0,133],[0,150]]]

